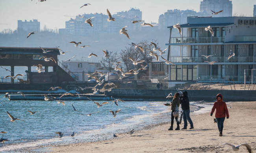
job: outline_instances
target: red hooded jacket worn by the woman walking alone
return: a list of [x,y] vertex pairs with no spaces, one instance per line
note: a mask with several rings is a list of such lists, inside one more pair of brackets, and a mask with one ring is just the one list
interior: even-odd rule
[[[218,96],[221,96],[221,100],[217,100]],[[216,112],[215,112],[216,118],[223,118],[226,116],[229,117],[227,105],[225,102],[222,101],[223,96],[220,93],[216,96],[216,100],[217,101],[214,102],[213,107],[211,109],[211,114],[213,114],[213,112],[216,109]]]

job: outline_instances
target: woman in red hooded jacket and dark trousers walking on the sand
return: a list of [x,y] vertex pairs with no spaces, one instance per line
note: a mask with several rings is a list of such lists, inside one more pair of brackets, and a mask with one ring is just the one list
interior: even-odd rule
[[217,120],[218,129],[219,129],[219,136],[222,137],[223,123],[224,123],[225,117],[229,118],[228,108],[226,106],[226,103],[222,101],[223,97],[220,93],[216,96],[216,99],[217,101],[214,102],[210,115],[212,116],[213,112],[216,109],[215,117]]

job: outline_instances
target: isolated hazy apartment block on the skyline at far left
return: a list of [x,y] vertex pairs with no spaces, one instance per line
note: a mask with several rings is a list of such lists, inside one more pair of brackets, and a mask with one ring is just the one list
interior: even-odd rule
[[30,20],[30,21],[22,21],[18,20],[18,32],[25,31],[25,32],[31,32],[31,31],[40,31],[40,22],[37,20]]

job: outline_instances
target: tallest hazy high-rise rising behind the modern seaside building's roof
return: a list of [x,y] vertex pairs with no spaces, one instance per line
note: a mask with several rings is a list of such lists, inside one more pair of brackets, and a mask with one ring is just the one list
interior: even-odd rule
[[218,15],[213,15],[213,17],[226,17],[232,16],[232,1],[231,0],[203,0],[200,3],[200,12],[212,13],[212,11],[218,12],[223,10],[223,12]]

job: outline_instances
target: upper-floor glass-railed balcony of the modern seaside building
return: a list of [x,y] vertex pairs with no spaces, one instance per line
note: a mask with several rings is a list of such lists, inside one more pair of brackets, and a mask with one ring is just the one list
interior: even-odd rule
[[170,44],[224,42],[224,37],[171,37]]

